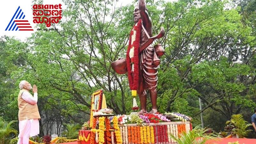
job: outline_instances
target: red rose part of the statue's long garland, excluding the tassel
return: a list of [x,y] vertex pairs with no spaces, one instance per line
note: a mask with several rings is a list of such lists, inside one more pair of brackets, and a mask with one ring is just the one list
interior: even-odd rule
[[[133,43],[132,42],[132,34],[133,31],[130,33],[130,39],[129,39],[129,45],[126,53],[126,64],[127,64],[127,70],[128,70],[128,80],[129,80],[129,86],[131,90],[137,90],[139,86],[139,47],[140,47],[140,32],[141,32],[141,22],[142,20],[140,19],[138,21],[137,26],[134,25],[134,30],[136,30],[136,38]],[[132,29],[133,29],[132,28]],[[129,52],[130,49],[134,47],[134,57],[133,57],[133,62],[134,62],[134,72],[132,72],[132,67],[131,67],[131,58],[129,57]],[[132,77],[133,73],[133,77]]]

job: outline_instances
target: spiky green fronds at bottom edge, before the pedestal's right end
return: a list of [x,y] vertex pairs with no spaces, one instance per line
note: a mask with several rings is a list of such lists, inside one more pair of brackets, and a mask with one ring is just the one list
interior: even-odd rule
[[180,137],[176,138],[171,133],[169,134],[171,138],[177,141],[178,144],[204,144],[207,140],[212,140],[218,137],[215,133],[207,133],[211,129],[202,129],[199,126],[196,126],[192,131],[188,133],[183,132],[180,134]]

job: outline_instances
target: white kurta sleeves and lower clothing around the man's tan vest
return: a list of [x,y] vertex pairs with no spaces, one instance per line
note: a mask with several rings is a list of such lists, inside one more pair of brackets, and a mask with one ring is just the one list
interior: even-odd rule
[[[34,97],[29,92],[24,91],[21,98],[30,104],[37,103],[37,93]],[[19,141],[18,144],[27,144],[28,138],[39,134],[39,121],[38,119],[25,119],[19,121]]]

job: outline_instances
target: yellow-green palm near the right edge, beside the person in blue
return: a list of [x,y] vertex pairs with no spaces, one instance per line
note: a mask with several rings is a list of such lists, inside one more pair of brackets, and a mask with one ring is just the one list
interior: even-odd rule
[[239,138],[246,137],[248,133],[252,131],[248,129],[248,127],[252,126],[252,124],[248,124],[248,122],[244,120],[241,114],[232,115],[231,120],[226,122],[227,125],[230,123],[235,126],[233,132],[234,134],[237,134]]

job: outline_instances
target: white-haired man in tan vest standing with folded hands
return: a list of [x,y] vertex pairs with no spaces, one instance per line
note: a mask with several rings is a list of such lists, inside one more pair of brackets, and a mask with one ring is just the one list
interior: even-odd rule
[[37,107],[37,87],[33,86],[32,96],[29,91],[32,89],[31,84],[22,80],[19,84],[20,93],[18,95],[19,107],[19,140],[18,144],[28,144],[29,137],[39,134],[40,114]]

